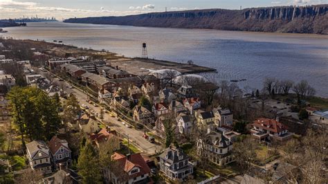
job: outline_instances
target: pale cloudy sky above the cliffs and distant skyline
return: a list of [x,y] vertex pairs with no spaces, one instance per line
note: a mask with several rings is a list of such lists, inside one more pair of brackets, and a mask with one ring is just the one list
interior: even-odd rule
[[203,8],[239,9],[310,5],[328,0],[0,0],[0,19],[15,17],[95,17]]

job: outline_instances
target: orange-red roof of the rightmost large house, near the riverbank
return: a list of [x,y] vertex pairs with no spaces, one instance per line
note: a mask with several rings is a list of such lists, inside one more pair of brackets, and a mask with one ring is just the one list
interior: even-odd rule
[[273,131],[275,133],[279,133],[288,129],[288,127],[283,125],[281,122],[277,122],[276,120],[271,120],[268,118],[259,118],[255,120],[253,126],[261,129],[266,129],[267,131]]

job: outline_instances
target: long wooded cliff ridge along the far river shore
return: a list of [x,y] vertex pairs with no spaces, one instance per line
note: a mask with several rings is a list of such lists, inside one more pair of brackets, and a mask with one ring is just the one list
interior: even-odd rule
[[188,10],[125,17],[67,19],[69,23],[114,24],[164,28],[209,28],[278,33],[328,34],[328,5],[248,8],[244,10]]

